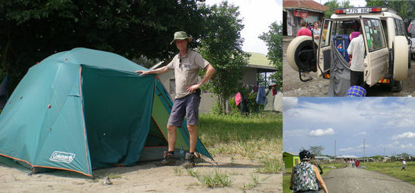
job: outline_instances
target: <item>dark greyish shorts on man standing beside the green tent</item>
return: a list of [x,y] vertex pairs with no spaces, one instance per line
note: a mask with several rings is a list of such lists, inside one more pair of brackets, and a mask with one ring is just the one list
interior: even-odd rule
[[192,93],[183,98],[176,98],[173,102],[172,112],[167,125],[181,127],[185,116],[187,125],[198,125],[200,102],[201,97],[198,93]]

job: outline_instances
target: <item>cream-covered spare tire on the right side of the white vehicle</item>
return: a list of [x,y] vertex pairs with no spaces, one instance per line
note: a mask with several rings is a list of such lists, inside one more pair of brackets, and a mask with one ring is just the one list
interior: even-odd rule
[[394,80],[406,80],[408,76],[408,42],[405,36],[395,36],[392,44],[394,54]]

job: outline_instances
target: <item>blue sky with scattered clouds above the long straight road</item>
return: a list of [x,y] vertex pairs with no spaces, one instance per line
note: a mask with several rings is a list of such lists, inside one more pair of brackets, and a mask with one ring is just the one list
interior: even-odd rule
[[415,154],[414,98],[289,98],[283,100],[283,151],[322,145],[334,156]]

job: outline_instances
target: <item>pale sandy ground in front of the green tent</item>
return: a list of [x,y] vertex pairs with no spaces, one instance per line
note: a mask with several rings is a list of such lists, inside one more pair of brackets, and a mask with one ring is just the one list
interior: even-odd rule
[[[155,162],[140,163],[133,167],[112,167],[93,171],[98,180],[67,171],[28,175],[14,167],[0,165],[0,192],[243,192],[243,184],[252,183],[252,174],[266,180],[246,192],[282,192],[282,174],[259,174],[259,160],[246,160],[229,156],[214,157],[219,167],[212,163],[199,163],[195,170],[204,174],[219,169],[232,179],[230,187],[208,188],[182,170],[176,176],[174,167],[156,167]],[[119,174],[105,185],[104,176]]]

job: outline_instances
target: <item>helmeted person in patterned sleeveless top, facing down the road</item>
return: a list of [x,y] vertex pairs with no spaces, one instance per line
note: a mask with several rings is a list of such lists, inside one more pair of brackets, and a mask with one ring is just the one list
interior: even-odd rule
[[308,150],[299,152],[301,163],[293,167],[291,172],[290,189],[293,192],[318,192],[318,184],[322,186],[325,193],[328,192],[326,184],[320,176],[317,166],[310,163],[312,154]]

